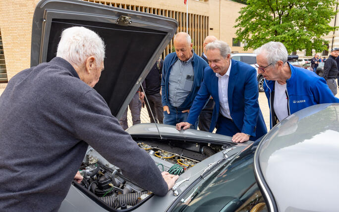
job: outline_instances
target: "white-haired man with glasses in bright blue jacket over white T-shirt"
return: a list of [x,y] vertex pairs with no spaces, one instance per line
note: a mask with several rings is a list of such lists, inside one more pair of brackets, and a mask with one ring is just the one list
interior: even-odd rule
[[308,106],[339,103],[323,77],[287,62],[280,42],[269,42],[254,51],[258,73],[265,78],[264,90],[270,107],[270,126]]

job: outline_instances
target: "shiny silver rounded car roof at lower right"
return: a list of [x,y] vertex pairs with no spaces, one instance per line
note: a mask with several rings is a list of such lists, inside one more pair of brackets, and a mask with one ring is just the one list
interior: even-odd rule
[[304,108],[270,130],[254,160],[271,211],[338,208],[338,137],[338,103]]

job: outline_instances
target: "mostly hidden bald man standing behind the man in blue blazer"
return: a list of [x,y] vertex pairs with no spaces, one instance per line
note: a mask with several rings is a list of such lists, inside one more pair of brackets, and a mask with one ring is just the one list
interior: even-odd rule
[[[205,54],[205,47],[207,44],[217,41],[218,39],[213,36],[213,35],[209,35],[205,38],[203,47],[204,47],[204,52],[201,54],[201,58],[203,58],[207,64],[208,64],[208,59],[207,56]],[[215,103],[213,101],[213,98],[210,97],[210,99],[208,100],[208,102],[206,103],[205,107],[203,108],[203,110],[200,112],[199,115],[199,130],[203,130],[206,132],[210,131],[210,125],[211,125],[211,119],[212,119],[212,115],[213,115],[213,108],[215,106]]]

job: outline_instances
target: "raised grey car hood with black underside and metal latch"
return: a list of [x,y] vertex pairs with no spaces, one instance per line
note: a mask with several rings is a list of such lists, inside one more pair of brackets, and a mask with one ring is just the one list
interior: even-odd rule
[[54,58],[62,30],[72,26],[84,26],[103,38],[105,71],[94,89],[119,118],[178,24],[168,17],[99,3],[41,0],[33,16],[31,66]]

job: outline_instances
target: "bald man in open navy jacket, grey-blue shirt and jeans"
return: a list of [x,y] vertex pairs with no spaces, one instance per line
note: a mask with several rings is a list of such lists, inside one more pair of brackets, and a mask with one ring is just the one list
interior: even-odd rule
[[[174,37],[175,53],[166,56],[161,81],[164,124],[185,121],[197,95],[208,64],[192,49],[191,37],[179,32]],[[206,102],[205,102],[206,103]],[[192,128],[197,128],[198,121]]]

